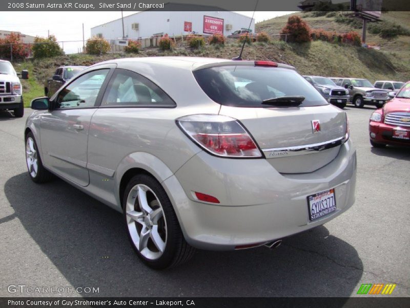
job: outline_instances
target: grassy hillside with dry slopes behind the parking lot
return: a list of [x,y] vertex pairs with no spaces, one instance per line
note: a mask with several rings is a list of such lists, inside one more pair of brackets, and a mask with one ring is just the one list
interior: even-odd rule
[[[347,32],[354,29],[350,24],[336,23],[334,17],[314,17],[312,13],[296,13],[304,18],[311,28]],[[256,25],[256,31],[268,32],[273,40],[266,43],[253,43],[245,46],[243,59],[271,60],[290,64],[301,74],[315,74],[323,76],[351,76],[366,78],[371,82],[376,80],[410,80],[410,36],[400,35],[386,40],[379,35],[368,33],[367,42],[381,47],[381,50],[365,49],[350,45],[337,45],[322,41],[306,44],[286,44],[278,41],[274,34],[286,24],[288,16],[280,16]],[[410,29],[409,12],[383,13],[383,20],[400,24]],[[240,51],[241,44],[231,41],[225,47],[206,45],[200,50],[191,50],[186,45],[179,45],[173,51],[160,51],[157,48],[145,49],[139,54],[105,54],[86,55],[72,54],[44,60],[28,60],[14,63],[17,71],[28,69],[29,81],[23,81],[25,105],[44,95],[44,81],[51,77],[61,65],[91,65],[97,62],[129,56],[209,56],[232,59]]]

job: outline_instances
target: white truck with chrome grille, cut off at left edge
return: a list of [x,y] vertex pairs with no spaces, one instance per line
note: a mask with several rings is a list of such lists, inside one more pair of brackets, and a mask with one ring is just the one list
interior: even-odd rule
[[0,110],[13,110],[14,117],[24,115],[23,88],[9,61],[0,60]]

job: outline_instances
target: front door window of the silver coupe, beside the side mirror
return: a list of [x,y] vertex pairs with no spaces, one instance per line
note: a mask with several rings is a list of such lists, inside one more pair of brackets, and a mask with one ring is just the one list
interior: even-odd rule
[[57,108],[84,108],[95,106],[99,90],[109,69],[88,72],[58,93]]

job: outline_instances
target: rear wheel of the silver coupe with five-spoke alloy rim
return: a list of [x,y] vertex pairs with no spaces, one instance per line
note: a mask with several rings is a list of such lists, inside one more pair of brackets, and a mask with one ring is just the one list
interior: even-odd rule
[[195,248],[183,238],[171,201],[155,178],[146,174],[134,176],[122,197],[128,238],[142,262],[164,269],[193,256]]

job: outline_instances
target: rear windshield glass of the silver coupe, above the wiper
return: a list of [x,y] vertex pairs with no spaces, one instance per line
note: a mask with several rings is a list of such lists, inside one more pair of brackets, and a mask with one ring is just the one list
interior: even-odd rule
[[280,67],[219,66],[194,71],[202,90],[215,102],[235,107],[272,107],[263,100],[303,96],[300,105],[323,106],[322,95],[296,71]]

